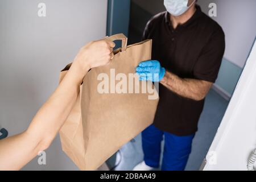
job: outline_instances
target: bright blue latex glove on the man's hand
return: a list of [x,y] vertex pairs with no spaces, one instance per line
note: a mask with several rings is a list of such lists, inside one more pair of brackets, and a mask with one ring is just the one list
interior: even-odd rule
[[148,60],[143,61],[138,65],[136,73],[139,75],[139,80],[159,82],[163,79],[166,69],[161,67],[159,61]]

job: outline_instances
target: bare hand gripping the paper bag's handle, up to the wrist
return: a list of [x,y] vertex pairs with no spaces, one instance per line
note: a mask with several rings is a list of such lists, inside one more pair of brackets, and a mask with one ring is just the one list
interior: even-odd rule
[[97,40],[82,47],[76,55],[74,64],[79,64],[85,74],[90,68],[100,67],[110,63],[113,57],[115,43],[110,40]]

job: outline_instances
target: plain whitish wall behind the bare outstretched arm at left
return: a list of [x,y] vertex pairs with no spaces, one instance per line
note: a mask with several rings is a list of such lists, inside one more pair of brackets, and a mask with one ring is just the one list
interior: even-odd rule
[[[38,3],[47,6],[39,18]],[[106,35],[107,0],[0,1],[0,127],[25,130],[56,88],[59,71],[86,42]],[[18,151],[17,151],[18,152]],[[61,151],[59,137],[23,169],[77,169]]]

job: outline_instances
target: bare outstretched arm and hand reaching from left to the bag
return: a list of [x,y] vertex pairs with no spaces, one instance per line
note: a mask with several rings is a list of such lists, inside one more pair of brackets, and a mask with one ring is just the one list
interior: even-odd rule
[[99,40],[80,49],[67,75],[28,129],[0,140],[0,170],[18,170],[48,148],[75,104],[82,79],[90,68],[109,63],[114,46],[113,42]]

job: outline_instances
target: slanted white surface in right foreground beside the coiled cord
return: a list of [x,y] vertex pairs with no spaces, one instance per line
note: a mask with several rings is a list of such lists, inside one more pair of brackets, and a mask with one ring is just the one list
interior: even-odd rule
[[210,146],[204,170],[247,170],[247,160],[256,148],[255,60],[256,42]]

